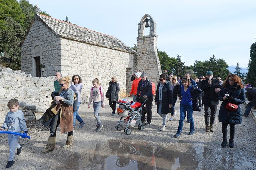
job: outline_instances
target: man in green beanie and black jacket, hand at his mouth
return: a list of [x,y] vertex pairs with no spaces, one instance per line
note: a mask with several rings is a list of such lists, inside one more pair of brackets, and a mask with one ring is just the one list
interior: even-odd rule
[[213,72],[207,71],[205,80],[201,82],[201,90],[204,92],[204,120],[205,120],[205,131],[213,132],[213,124],[217,106],[219,104],[218,92],[221,86],[217,79],[213,79]]

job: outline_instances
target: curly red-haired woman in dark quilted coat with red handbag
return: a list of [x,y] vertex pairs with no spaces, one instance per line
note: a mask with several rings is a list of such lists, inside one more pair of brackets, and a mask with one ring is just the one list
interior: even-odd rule
[[[242,112],[239,104],[245,102],[245,91],[243,88],[242,81],[240,77],[235,74],[230,74],[227,76],[226,80],[223,82],[222,88],[219,92],[219,100],[223,101],[220,106],[219,111],[219,122],[222,122],[222,134],[223,141],[221,143],[222,147],[225,147],[228,143],[227,133],[228,124],[230,127],[229,136],[229,147],[234,147],[234,136],[235,136],[235,125],[242,124]],[[228,103],[238,105],[238,108],[234,111],[226,108]]]

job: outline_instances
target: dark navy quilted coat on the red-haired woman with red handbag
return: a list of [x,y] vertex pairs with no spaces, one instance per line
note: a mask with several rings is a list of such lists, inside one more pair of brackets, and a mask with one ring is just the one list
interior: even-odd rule
[[[234,97],[234,101],[223,100],[225,94],[229,94],[230,96]],[[239,104],[243,104],[245,102],[244,89],[238,87],[237,85],[229,85],[229,83],[227,83],[227,87],[222,87],[219,92],[219,100],[223,101],[220,105],[219,122],[226,123],[228,121],[229,124],[242,124],[241,108],[238,107],[238,109],[233,112],[225,107],[228,102],[238,106]]]

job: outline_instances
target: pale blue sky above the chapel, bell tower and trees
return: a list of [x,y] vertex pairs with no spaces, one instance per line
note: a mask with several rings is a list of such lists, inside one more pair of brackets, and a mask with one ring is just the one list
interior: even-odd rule
[[[30,0],[60,20],[137,44],[138,23],[149,14],[157,23],[157,48],[179,54],[185,65],[213,54],[228,65],[246,68],[256,38],[255,0]],[[147,29],[146,29],[147,30]],[[147,33],[147,32],[146,32]],[[149,29],[148,29],[149,33]]]

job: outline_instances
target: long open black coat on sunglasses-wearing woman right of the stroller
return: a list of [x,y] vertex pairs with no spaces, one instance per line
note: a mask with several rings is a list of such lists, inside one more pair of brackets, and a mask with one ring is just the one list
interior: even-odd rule
[[[156,97],[155,102],[157,102],[157,113],[158,113],[158,107],[159,107],[159,87],[160,82],[157,84],[156,88]],[[171,83],[168,81],[163,85],[162,88],[162,114],[168,114],[172,112],[172,108],[169,108],[169,104],[172,104],[172,86]]]

